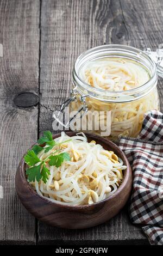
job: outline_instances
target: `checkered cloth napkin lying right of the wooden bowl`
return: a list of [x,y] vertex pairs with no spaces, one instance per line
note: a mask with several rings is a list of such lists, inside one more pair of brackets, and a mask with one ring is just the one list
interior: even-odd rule
[[151,245],[163,245],[163,114],[145,114],[139,137],[120,139],[133,169],[131,222],[142,228]]

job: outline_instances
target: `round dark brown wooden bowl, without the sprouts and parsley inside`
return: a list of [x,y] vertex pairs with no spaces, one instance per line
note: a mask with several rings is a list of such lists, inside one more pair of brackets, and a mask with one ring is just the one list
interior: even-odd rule
[[[66,132],[68,136],[76,133]],[[60,136],[60,133],[53,138]],[[112,196],[91,205],[70,206],[53,203],[42,198],[27,182],[25,174],[25,163],[22,158],[16,172],[16,191],[22,204],[40,221],[60,228],[82,229],[101,224],[114,217],[126,204],[132,186],[132,172],[130,164],[123,151],[116,144],[100,136],[86,134],[88,141],[96,141],[104,149],[112,150],[121,157],[127,169],[124,170],[124,178],[118,190]]]

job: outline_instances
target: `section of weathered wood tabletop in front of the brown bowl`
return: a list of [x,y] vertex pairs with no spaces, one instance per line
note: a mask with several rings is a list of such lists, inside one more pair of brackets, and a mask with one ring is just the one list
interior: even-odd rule
[[140,227],[129,222],[124,210],[102,225],[83,230],[59,229],[39,222],[38,237],[42,245],[148,245]]

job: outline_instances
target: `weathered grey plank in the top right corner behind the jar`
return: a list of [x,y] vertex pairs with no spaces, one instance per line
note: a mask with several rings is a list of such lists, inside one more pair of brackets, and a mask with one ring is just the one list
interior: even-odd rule
[[[127,32],[127,44],[141,50],[150,47],[152,51],[155,51],[163,42],[163,1],[120,0],[120,6]],[[161,111],[163,111],[162,85],[163,80],[159,78],[158,90]]]

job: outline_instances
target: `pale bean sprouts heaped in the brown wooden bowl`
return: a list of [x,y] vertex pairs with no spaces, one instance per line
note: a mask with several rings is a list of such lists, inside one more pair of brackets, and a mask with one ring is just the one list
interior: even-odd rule
[[[47,181],[30,182],[41,197],[59,204],[85,205],[104,200],[117,191],[127,167],[114,151],[105,150],[96,141],[87,142],[84,133],[70,137],[62,132],[54,141],[51,150],[46,153],[46,145],[37,155],[40,161],[46,160]],[[69,155],[67,161],[53,165],[51,156],[56,159],[65,153]]]

